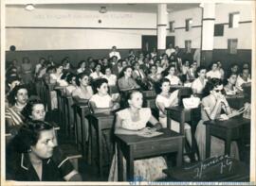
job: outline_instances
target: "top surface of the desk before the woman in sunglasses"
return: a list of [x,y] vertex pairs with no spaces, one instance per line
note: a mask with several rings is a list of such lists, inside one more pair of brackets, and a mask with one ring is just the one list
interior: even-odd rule
[[204,122],[204,124],[231,129],[231,128],[240,127],[246,124],[250,124],[250,120],[243,118],[242,115],[239,115],[239,116],[229,118],[229,120],[225,120],[225,121],[220,121],[220,120],[206,121]]

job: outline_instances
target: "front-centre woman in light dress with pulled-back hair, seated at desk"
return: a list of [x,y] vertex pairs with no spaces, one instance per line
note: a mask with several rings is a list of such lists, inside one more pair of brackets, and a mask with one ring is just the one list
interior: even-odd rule
[[[149,130],[161,128],[161,124],[152,115],[150,108],[142,108],[142,93],[134,90],[128,95],[129,108],[117,112],[115,134],[139,135]],[[149,129],[146,124],[150,122],[155,127]],[[126,177],[126,161],[123,159],[123,173]],[[162,157],[155,157],[134,161],[135,177],[144,178],[147,181],[164,178],[163,169],[167,168],[166,161]],[[109,181],[118,180],[118,152],[116,151],[110,168]]]

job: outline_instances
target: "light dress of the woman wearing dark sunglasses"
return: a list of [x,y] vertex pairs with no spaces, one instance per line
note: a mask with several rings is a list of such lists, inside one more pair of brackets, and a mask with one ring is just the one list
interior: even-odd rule
[[[206,126],[204,125],[205,121],[209,121],[209,117],[205,109],[213,110],[216,101],[211,95],[208,95],[202,99],[202,106],[201,106],[201,118],[202,120],[199,121],[196,130],[195,130],[195,139],[199,148],[199,154],[201,160],[206,159]],[[221,107],[217,110],[216,118],[220,116]],[[225,141],[211,136],[211,143],[210,143],[210,157],[214,156],[221,156],[224,155],[225,152]],[[231,143],[230,148],[230,155],[232,158],[239,160],[239,151],[237,144],[235,142]]]

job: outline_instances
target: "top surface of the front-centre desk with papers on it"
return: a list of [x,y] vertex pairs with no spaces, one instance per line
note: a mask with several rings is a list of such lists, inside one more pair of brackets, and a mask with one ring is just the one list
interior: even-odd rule
[[127,145],[144,144],[144,143],[152,144],[154,142],[159,142],[161,140],[184,137],[184,135],[174,132],[173,130],[170,130],[168,128],[162,128],[159,130],[159,132],[163,132],[163,134],[161,134],[159,136],[152,137],[152,138],[141,137],[141,136],[137,136],[137,135],[125,135],[125,134],[116,134],[116,137],[119,138],[119,140],[121,140],[122,142],[124,142]]

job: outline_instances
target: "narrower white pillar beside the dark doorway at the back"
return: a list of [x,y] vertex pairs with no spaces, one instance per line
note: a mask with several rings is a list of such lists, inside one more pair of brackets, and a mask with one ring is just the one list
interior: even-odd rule
[[157,50],[162,54],[166,49],[166,29],[168,23],[167,4],[157,5]]

